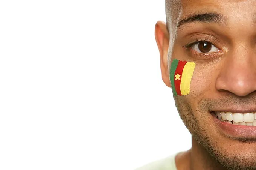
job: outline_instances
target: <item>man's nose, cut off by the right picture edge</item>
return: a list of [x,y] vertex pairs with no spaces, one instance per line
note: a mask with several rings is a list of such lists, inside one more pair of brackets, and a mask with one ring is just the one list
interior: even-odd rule
[[247,96],[256,90],[256,56],[250,53],[239,54],[225,57],[215,86],[219,91]]

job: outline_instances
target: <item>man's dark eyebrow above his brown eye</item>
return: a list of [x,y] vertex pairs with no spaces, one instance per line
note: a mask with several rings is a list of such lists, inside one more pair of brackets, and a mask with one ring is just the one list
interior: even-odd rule
[[181,20],[177,24],[177,29],[180,29],[185,24],[193,22],[203,22],[203,23],[219,23],[225,25],[227,18],[222,14],[217,13],[204,13],[204,14],[195,14],[190,15],[189,17]]

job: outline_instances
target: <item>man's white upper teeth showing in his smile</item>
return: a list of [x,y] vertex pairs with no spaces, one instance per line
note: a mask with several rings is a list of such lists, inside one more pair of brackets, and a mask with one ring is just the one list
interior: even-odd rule
[[[256,125],[256,113],[231,113],[231,112],[215,112],[217,118],[222,121],[233,121],[233,124],[245,124],[247,123],[248,125],[255,124]],[[244,122],[244,123],[242,123]]]

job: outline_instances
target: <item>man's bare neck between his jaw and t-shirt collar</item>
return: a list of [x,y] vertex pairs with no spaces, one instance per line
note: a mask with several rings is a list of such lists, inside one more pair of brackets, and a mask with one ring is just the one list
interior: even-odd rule
[[227,170],[192,137],[192,148],[176,156],[177,170]]

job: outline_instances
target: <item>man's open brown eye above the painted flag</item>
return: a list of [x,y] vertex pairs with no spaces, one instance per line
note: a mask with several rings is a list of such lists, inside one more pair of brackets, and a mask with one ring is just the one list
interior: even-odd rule
[[197,53],[218,53],[219,49],[210,42],[197,42],[191,46],[191,49]]

